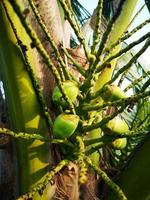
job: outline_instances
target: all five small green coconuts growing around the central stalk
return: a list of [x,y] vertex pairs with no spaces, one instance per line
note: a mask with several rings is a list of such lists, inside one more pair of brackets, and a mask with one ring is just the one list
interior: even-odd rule
[[[67,94],[68,98],[72,103],[75,103],[77,100],[77,96],[79,94],[79,88],[74,81],[65,81],[62,84],[62,87]],[[103,92],[101,95],[104,101],[115,101],[121,98],[125,98],[125,93],[115,85],[106,85],[103,88]],[[62,96],[62,93],[58,86],[56,86],[53,90],[52,101],[56,106],[62,106],[64,109],[67,108],[67,102]],[[66,139],[69,138],[78,127],[79,116],[75,114],[69,113],[61,113],[57,116],[54,121],[53,126],[53,135],[54,138],[58,139]],[[104,127],[104,131],[108,134],[123,134],[129,131],[129,127],[127,123],[121,119],[120,117],[115,117],[110,120]],[[111,143],[111,146],[116,149],[123,149],[127,144],[126,138],[119,138],[114,140]]]

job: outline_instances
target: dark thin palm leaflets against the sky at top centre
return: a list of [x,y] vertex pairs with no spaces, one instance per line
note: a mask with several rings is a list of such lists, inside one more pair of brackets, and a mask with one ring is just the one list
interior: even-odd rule
[[90,18],[91,14],[79,3],[78,0],[71,0],[73,11],[75,12],[81,25]]

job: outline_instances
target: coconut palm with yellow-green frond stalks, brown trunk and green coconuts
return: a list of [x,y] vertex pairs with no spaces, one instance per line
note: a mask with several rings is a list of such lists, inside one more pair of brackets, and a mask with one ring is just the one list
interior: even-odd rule
[[122,43],[149,20],[127,32],[137,0],[115,1],[111,16],[99,0],[83,25],[75,3],[0,1],[0,72],[10,122],[0,133],[15,138],[15,198],[148,199],[150,81],[137,59],[150,34]]

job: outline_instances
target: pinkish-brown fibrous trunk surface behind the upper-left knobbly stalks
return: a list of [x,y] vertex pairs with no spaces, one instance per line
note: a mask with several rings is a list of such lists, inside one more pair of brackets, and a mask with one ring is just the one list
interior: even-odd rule
[[[49,44],[45,33],[39,26],[34,13],[30,9],[29,2],[30,4],[32,2],[35,4],[36,9],[38,10],[38,14],[42,18],[43,24],[46,26],[46,29],[49,32],[58,50],[60,50],[59,46],[61,44],[63,44],[64,47],[67,48],[70,45],[70,25],[68,25],[68,21],[64,18],[64,13],[59,2],[55,0],[26,1],[26,9],[30,10],[30,12],[27,14],[27,21],[32,25],[32,28],[36,32],[38,38],[42,41],[42,44],[46,49],[48,55],[51,57],[53,63],[59,68],[57,55],[55,55],[54,53],[55,50],[53,49],[52,45]],[[36,56],[35,68],[37,71],[38,78],[40,80],[40,85],[42,87],[46,103],[48,107],[51,107],[51,110],[53,112],[53,105],[51,105],[50,97],[52,95],[54,87],[56,86],[56,81],[52,73],[47,69],[43,58],[35,48],[34,53]]]

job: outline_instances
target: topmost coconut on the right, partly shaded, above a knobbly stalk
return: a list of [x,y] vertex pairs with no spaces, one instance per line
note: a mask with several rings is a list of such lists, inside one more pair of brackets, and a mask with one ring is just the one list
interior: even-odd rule
[[122,98],[126,98],[126,95],[116,85],[105,85],[101,97],[104,101],[116,101]]

